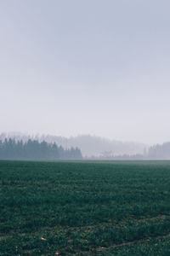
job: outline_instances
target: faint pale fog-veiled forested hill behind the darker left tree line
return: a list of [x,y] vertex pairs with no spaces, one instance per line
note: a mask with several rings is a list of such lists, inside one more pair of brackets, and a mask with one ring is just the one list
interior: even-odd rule
[[83,156],[105,156],[123,155],[123,154],[143,154],[144,148],[147,148],[143,143],[123,143],[121,141],[110,140],[102,137],[90,135],[82,135],[77,137],[57,137],[51,135],[28,136],[21,133],[3,133],[0,135],[0,140],[12,137],[16,141],[22,140],[26,143],[29,139],[37,140],[40,143],[56,143],[63,148],[80,148]]

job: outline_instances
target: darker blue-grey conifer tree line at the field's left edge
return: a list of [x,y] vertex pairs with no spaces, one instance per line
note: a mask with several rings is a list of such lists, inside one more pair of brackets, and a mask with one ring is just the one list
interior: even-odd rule
[[14,139],[0,140],[1,160],[81,160],[82,153],[79,148],[64,149],[56,143],[39,143],[29,139],[27,142]]

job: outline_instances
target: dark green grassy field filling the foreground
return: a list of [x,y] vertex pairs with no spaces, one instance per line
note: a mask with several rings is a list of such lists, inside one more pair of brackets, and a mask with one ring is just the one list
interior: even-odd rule
[[170,255],[170,162],[0,161],[0,255]]

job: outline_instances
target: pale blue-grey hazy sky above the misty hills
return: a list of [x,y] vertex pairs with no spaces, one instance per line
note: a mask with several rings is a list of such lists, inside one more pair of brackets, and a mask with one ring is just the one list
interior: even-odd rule
[[0,132],[170,141],[169,0],[0,0]]

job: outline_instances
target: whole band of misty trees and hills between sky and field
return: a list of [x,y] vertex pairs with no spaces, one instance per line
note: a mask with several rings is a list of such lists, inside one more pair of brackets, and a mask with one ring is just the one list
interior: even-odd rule
[[[21,152],[27,152],[21,154]],[[10,154],[11,152],[11,154]],[[17,153],[18,152],[18,153]],[[82,135],[0,134],[0,159],[170,160],[170,142],[147,145]]]

